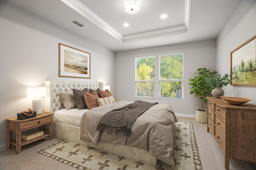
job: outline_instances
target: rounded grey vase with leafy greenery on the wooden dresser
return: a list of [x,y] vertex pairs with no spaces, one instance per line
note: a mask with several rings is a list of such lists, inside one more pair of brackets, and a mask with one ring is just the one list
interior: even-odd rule
[[217,74],[216,76],[205,78],[206,83],[208,83],[210,87],[213,88],[212,96],[214,96],[214,98],[220,98],[220,96],[224,95],[224,90],[221,88],[230,84],[231,80],[229,80],[229,76],[230,75],[226,73],[222,77],[220,74]]

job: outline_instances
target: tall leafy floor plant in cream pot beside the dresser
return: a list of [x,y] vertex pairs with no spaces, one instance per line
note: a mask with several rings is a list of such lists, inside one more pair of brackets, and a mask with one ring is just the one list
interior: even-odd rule
[[198,72],[195,72],[196,76],[194,79],[190,78],[188,83],[192,86],[190,89],[190,94],[194,94],[195,97],[200,97],[201,109],[196,107],[196,121],[199,123],[206,123],[206,110],[203,109],[203,102],[207,103],[207,96],[211,96],[211,92],[214,88],[211,88],[209,84],[206,83],[205,79],[215,76],[216,71],[211,72],[207,68],[198,68]]

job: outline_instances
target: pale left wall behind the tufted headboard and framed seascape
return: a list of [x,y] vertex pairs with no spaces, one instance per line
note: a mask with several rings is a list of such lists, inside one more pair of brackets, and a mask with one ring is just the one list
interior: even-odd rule
[[[113,51],[10,4],[0,3],[0,25],[0,150],[6,149],[5,119],[32,107],[27,86],[102,81],[114,89]],[[91,53],[90,79],[58,77],[58,43]]]

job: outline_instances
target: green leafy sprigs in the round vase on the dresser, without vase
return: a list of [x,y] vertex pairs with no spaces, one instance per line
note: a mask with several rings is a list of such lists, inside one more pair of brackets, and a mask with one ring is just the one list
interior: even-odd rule
[[211,88],[222,88],[230,84],[231,80],[228,79],[229,76],[228,74],[224,74],[224,76],[221,77],[220,74],[217,74],[216,76],[206,77],[205,81]]

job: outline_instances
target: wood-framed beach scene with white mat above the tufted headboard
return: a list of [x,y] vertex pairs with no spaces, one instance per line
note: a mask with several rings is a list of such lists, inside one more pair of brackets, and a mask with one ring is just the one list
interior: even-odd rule
[[91,78],[91,54],[59,43],[59,77]]

